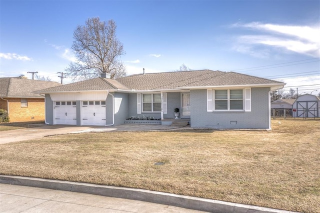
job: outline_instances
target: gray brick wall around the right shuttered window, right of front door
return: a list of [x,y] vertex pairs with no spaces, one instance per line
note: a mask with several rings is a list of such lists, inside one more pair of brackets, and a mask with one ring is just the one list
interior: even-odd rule
[[[200,128],[261,128],[269,127],[269,87],[251,88],[251,111],[206,111],[206,89],[190,91],[191,127]],[[236,124],[235,124],[236,123]]]

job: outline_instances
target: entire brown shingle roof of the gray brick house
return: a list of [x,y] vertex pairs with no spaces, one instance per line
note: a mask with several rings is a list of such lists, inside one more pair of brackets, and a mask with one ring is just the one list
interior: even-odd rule
[[88,91],[88,90],[170,90],[230,85],[284,85],[283,82],[269,80],[236,72],[212,70],[192,70],[134,74],[118,79],[93,78],[69,83],[37,92]]

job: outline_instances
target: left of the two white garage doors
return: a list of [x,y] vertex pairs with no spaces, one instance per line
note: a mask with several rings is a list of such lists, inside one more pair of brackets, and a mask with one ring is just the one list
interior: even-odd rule
[[76,125],[76,102],[54,101],[53,124]]

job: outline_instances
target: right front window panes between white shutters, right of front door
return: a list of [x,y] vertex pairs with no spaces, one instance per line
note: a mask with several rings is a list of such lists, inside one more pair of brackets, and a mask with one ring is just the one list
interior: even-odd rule
[[243,110],[243,90],[214,90],[214,110]]

